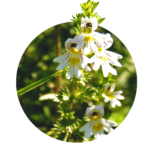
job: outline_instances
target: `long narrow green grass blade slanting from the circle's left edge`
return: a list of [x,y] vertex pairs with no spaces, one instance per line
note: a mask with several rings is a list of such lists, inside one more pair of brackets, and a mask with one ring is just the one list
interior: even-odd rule
[[28,85],[28,86],[26,86],[26,87],[20,89],[20,90],[18,90],[18,91],[16,92],[16,96],[17,96],[17,95],[22,95],[22,94],[24,94],[24,93],[27,93],[28,91],[31,91],[32,89],[34,89],[34,88],[36,88],[36,87],[38,87],[38,86],[44,84],[44,83],[47,82],[48,80],[50,80],[50,79],[52,79],[53,77],[56,77],[57,75],[59,75],[62,71],[63,71],[63,70],[59,70],[59,71],[55,72],[54,74],[52,74],[52,75],[50,75],[50,76],[47,76],[47,77],[45,77],[45,78],[43,78],[43,79],[41,79],[41,80],[38,80],[38,81],[36,81],[36,82],[34,82],[34,83],[32,83],[32,84],[30,84],[30,85]]

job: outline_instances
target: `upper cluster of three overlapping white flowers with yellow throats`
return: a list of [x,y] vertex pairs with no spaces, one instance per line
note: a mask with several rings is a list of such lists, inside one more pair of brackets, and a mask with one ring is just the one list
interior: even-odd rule
[[[97,27],[98,21],[96,17],[82,17],[82,33],[76,35],[73,39],[68,38],[65,42],[67,53],[53,60],[60,63],[56,70],[62,70],[69,66],[66,74],[67,79],[72,78],[73,75],[79,79],[82,78],[81,69],[90,71],[91,68],[88,63],[93,62],[93,70],[98,70],[102,66],[104,77],[107,77],[109,72],[117,75],[117,71],[110,66],[110,63],[121,67],[122,65],[118,62],[118,59],[121,59],[122,55],[107,50],[112,45],[113,39],[109,33],[101,34],[96,32]],[[94,53],[93,57],[86,57],[85,55],[91,51]]]

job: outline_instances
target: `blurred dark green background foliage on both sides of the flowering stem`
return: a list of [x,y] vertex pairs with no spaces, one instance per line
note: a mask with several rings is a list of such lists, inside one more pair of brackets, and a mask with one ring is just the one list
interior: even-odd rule
[[[123,56],[119,60],[123,66],[113,66],[113,68],[118,72],[115,91],[122,90],[125,100],[121,101],[121,107],[116,106],[115,108],[111,108],[109,102],[107,109],[111,112],[111,115],[106,115],[106,118],[116,121],[120,126],[130,114],[137,95],[138,76],[135,61],[126,44],[115,33],[102,26],[99,26],[96,31],[110,33],[114,42],[108,50]],[[15,76],[16,90],[56,72],[55,69],[58,64],[54,63],[53,59],[65,53],[65,41],[68,38],[74,38],[74,36],[74,23],[71,21],[53,25],[37,34],[20,56]],[[123,37],[124,35],[122,35]],[[91,85],[96,83],[96,86],[98,86],[97,80],[92,80]],[[42,133],[49,131],[60,117],[57,112],[59,103],[50,99],[49,94],[57,94],[58,90],[66,85],[71,87],[72,85],[69,83],[65,77],[65,72],[63,72],[61,76],[17,96],[22,112],[37,130]],[[80,106],[83,112],[85,112],[86,106]]]

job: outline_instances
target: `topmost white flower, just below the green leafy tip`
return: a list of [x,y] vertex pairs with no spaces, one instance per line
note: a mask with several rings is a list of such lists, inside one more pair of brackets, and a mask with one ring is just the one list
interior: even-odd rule
[[[85,43],[85,48],[84,48],[84,53],[88,54],[92,50],[94,53],[98,52],[98,48],[94,41],[100,41],[100,43],[103,43],[104,41],[104,36],[102,34],[95,32],[95,30],[98,27],[98,21],[96,17],[86,17],[86,18],[81,18],[81,29],[82,33],[79,35],[83,39]],[[103,39],[102,39],[103,38]]]

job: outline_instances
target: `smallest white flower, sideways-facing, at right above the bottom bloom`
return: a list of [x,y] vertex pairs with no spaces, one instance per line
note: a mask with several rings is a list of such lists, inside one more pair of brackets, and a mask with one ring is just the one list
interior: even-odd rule
[[117,99],[123,100],[124,96],[120,95],[123,92],[122,91],[116,91],[113,92],[115,89],[115,83],[113,84],[106,84],[105,85],[105,93],[102,94],[102,96],[105,98],[105,102],[107,103],[108,101],[111,102],[111,106],[114,108],[116,105],[121,106],[120,101]]

